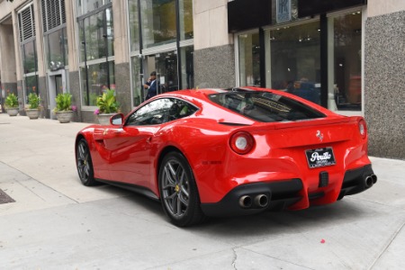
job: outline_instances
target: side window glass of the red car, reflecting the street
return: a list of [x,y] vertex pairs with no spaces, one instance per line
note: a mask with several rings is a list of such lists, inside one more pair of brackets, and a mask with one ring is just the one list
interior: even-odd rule
[[174,121],[193,114],[198,108],[174,98],[161,98],[145,104],[133,112],[126,125],[157,125],[167,121]]

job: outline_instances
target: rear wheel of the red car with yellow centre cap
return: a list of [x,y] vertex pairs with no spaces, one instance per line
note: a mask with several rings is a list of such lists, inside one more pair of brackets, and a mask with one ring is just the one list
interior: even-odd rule
[[163,158],[158,182],[163,210],[173,224],[186,227],[205,220],[193,171],[182,154],[171,152]]

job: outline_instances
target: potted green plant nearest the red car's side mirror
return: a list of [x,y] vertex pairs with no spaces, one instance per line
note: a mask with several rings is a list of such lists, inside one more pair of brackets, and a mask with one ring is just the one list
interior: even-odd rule
[[119,107],[115,98],[115,90],[106,89],[102,95],[98,96],[97,107],[94,114],[97,115],[98,122],[102,125],[110,124],[110,117],[118,112]]

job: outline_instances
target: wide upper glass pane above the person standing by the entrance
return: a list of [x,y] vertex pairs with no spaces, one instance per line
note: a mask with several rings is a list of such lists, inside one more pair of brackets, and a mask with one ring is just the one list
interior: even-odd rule
[[175,42],[175,0],[144,0],[140,5],[143,47]]

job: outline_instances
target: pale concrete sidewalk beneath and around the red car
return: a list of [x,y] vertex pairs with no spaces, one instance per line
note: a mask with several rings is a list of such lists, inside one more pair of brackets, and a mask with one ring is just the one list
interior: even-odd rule
[[179,229],[158,202],[80,184],[86,125],[0,113],[1,269],[405,269],[403,160],[371,157],[378,183],[331,205]]

